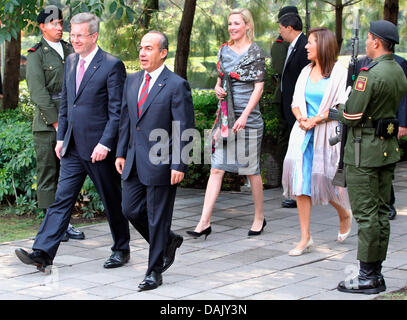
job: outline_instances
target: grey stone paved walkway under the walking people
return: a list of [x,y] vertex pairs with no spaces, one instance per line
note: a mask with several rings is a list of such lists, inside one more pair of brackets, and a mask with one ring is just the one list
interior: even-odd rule
[[[383,274],[387,292],[407,283],[407,162],[397,167],[394,181],[398,215]],[[357,225],[341,244],[336,241],[338,217],[330,206],[313,208],[310,253],[290,257],[299,241],[297,209],[281,208],[281,189],[265,190],[267,227],[247,236],[254,207],[250,193],[222,192],[216,202],[212,234],[189,238],[199,220],[204,190],[179,189],[172,229],[184,236],[163,285],[139,292],[147,268],[148,246],[131,228],[131,260],[121,268],[104,269],[112,243],[107,223],[81,228],[86,240],[62,243],[51,275],[19,262],[18,247],[31,249],[33,240],[0,244],[0,300],[368,300],[374,295],[338,292],[339,281],[357,272]]]

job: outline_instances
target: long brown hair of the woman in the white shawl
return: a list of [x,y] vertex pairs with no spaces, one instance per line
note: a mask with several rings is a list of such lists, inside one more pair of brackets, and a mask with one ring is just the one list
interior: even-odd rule
[[[317,43],[317,59],[321,65],[322,75],[329,78],[339,55],[336,37],[328,28],[313,28],[308,32],[308,38],[311,34]],[[312,65],[314,66],[315,62]]]

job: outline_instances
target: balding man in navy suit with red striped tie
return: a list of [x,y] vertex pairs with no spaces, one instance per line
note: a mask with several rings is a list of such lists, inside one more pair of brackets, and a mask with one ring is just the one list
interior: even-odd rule
[[165,255],[174,257],[183,240],[170,227],[177,184],[187,171],[180,156],[187,141],[180,137],[194,128],[194,109],[188,82],[164,65],[167,54],[168,40],[161,32],[142,38],[144,71],[126,79],[120,117],[116,168],[123,180],[123,213],[150,244],[140,290],[162,284]]

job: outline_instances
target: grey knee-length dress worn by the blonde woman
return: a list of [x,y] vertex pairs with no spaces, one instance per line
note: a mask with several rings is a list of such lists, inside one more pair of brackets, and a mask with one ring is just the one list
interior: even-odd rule
[[[247,54],[248,52],[246,51],[239,55],[230,49],[229,46],[225,46],[222,51],[222,63],[225,72],[233,71],[233,68]],[[236,120],[246,108],[253,93],[254,84],[255,81],[244,82],[232,79],[231,85]],[[215,147],[212,153],[212,168],[240,175],[259,175],[262,137],[263,119],[259,104],[257,104],[247,119],[245,129],[238,132],[233,140],[224,141]]]

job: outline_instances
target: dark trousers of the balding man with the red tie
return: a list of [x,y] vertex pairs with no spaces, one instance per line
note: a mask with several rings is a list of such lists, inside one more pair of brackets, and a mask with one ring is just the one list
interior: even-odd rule
[[164,252],[174,236],[170,228],[176,191],[176,185],[142,184],[135,167],[123,181],[123,213],[150,244],[146,275],[162,272]]

